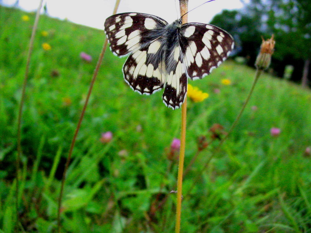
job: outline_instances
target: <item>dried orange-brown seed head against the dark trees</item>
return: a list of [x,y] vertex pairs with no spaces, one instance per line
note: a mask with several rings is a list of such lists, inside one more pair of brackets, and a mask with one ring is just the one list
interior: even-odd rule
[[274,35],[270,39],[264,40],[262,38],[262,43],[260,46],[260,53],[258,54],[255,62],[255,66],[258,69],[264,70],[270,66],[271,56],[274,52],[275,40],[273,39]]

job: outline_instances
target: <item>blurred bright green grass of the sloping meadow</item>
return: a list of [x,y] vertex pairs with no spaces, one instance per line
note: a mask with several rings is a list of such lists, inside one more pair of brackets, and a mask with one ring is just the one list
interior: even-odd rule
[[[0,7],[0,232],[6,233],[16,221],[16,119],[34,21],[29,13],[30,21],[22,21],[24,14]],[[65,159],[103,41],[100,30],[39,20],[22,121],[18,212],[26,232],[55,232]],[[52,49],[44,51],[42,43]],[[91,63],[80,59],[82,51],[92,55]],[[169,191],[178,161],[167,155],[179,137],[181,111],[165,107],[160,92],[134,93],[123,81],[125,59],[107,50],[100,68],[68,170],[64,232],[174,231],[176,198]],[[185,166],[197,137],[206,136],[209,146],[184,178],[183,193],[190,195],[182,204],[181,232],[311,232],[311,161],[304,156],[311,145],[311,92],[295,84],[262,75],[232,135],[193,186],[219,143],[210,127],[230,128],[254,73],[227,61],[189,82],[210,96],[188,103]],[[224,78],[231,85],[221,84]],[[272,137],[271,127],[281,134]],[[108,144],[100,142],[105,131],[114,134]]]

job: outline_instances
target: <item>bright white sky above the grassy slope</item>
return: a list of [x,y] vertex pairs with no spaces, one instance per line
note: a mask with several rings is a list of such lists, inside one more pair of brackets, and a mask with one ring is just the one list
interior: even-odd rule
[[[12,6],[16,0],[2,0],[2,4]],[[206,0],[189,0],[189,10],[199,6]],[[246,0],[244,2],[249,2]],[[105,19],[112,14],[114,0],[44,0],[51,17],[65,19],[77,24],[104,29]],[[178,0],[121,0],[117,13],[140,12],[159,16],[171,23],[178,17],[175,4]],[[26,11],[36,11],[39,0],[20,0],[19,7]],[[243,7],[240,0],[216,0],[208,2],[191,11],[188,22],[208,23],[213,16],[223,9]],[[178,8],[179,10],[179,8]]]

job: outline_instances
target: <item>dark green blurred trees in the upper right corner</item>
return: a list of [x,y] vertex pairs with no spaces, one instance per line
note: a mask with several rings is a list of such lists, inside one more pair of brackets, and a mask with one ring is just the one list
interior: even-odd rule
[[[234,35],[241,56],[253,66],[260,36],[275,35],[272,67],[283,76],[284,67],[295,66],[293,76],[303,76],[306,85],[311,57],[311,4],[309,0],[251,0],[239,11],[223,11],[212,24]],[[304,70],[304,72],[302,72]],[[297,80],[296,80],[297,81]]]

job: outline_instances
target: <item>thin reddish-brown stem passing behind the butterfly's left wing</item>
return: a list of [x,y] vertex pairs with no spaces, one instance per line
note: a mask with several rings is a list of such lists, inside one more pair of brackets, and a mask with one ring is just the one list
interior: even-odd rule
[[[119,4],[120,4],[120,0],[116,0],[113,14],[115,14],[117,12]],[[103,48],[101,50],[100,56],[98,58],[98,61],[97,61],[96,67],[95,67],[95,71],[93,73],[93,77],[92,77],[92,80],[91,80],[91,83],[90,83],[90,86],[89,86],[89,91],[88,91],[87,96],[86,96],[86,100],[85,100],[85,103],[84,103],[84,106],[83,106],[83,109],[82,109],[82,112],[81,112],[81,115],[80,115],[80,118],[79,118],[79,121],[78,121],[78,124],[77,124],[77,128],[76,128],[75,134],[74,134],[74,136],[72,138],[72,142],[71,142],[69,153],[68,153],[68,158],[67,158],[67,161],[66,161],[66,164],[65,164],[65,168],[64,168],[64,172],[63,172],[63,178],[62,178],[62,183],[61,183],[61,189],[60,189],[60,193],[59,193],[59,197],[58,197],[58,214],[57,214],[58,232],[60,232],[60,229],[61,229],[60,214],[61,214],[61,206],[62,206],[64,183],[65,183],[65,180],[66,180],[66,172],[67,172],[70,160],[71,160],[72,150],[73,150],[73,147],[74,147],[74,145],[76,143],[76,139],[77,139],[78,132],[80,130],[81,122],[82,122],[82,119],[84,117],[84,113],[85,113],[87,104],[89,102],[89,98],[91,96],[93,85],[95,83],[95,80],[96,80],[96,77],[97,77],[97,74],[98,74],[101,62],[103,60],[103,57],[104,57],[104,54],[105,54],[105,51],[106,51],[106,48],[107,48],[107,44],[108,44],[108,40],[106,39],[105,42],[104,42]]]

